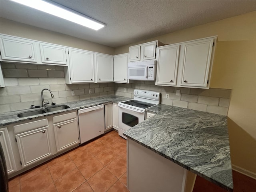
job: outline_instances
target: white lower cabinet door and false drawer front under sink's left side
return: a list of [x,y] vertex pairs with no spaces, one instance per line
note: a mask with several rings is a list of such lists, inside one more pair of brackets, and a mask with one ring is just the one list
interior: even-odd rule
[[14,126],[22,167],[52,155],[48,120]]

